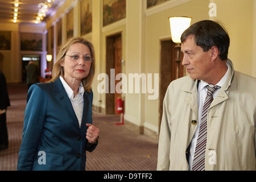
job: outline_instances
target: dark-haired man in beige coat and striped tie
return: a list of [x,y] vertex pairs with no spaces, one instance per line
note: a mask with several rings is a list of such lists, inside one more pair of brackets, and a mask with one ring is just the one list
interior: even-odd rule
[[218,88],[207,109],[199,170],[255,170],[256,78],[234,71],[228,48],[228,33],[211,20],[192,24],[181,35],[189,76],[172,81],[164,97],[158,170],[195,169],[207,85]]

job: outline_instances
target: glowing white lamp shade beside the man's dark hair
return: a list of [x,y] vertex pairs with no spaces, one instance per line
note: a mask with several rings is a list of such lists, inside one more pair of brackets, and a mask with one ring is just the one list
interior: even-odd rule
[[181,43],[181,34],[190,26],[191,18],[186,16],[169,17],[172,41]]

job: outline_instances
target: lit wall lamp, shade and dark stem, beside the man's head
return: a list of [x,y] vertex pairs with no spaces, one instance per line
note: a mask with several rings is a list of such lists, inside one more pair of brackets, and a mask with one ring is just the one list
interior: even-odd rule
[[174,60],[176,62],[176,78],[179,78],[180,67],[180,44],[181,34],[190,26],[191,18],[187,16],[171,16],[169,17],[172,41],[176,43]]

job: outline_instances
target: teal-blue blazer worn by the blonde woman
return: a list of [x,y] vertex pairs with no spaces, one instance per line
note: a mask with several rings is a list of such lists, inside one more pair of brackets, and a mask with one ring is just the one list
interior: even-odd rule
[[84,92],[81,127],[60,78],[28,90],[17,170],[85,170],[93,92]]

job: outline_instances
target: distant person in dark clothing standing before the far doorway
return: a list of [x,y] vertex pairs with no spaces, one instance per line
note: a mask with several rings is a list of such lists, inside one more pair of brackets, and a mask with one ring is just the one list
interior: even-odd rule
[[29,89],[32,84],[39,82],[39,69],[34,61],[29,61],[25,69],[27,72],[27,86]]

